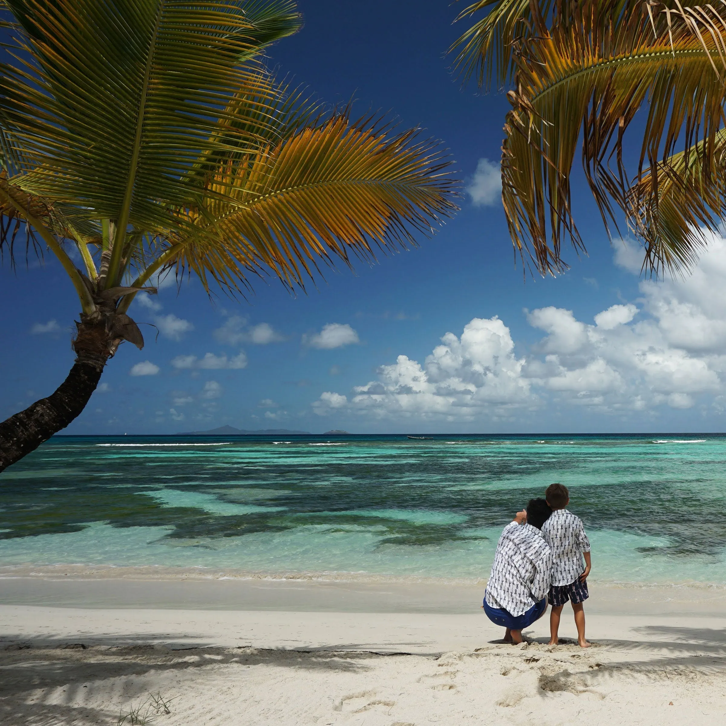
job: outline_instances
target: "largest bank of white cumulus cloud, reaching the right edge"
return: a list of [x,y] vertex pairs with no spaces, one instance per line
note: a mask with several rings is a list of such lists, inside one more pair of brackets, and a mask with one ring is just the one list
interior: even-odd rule
[[[621,253],[616,248],[616,259]],[[640,263],[630,263],[640,272]],[[542,335],[515,353],[498,317],[446,333],[423,363],[400,354],[348,395],[322,393],[319,415],[393,420],[528,420],[550,407],[606,415],[701,407],[726,412],[726,240],[713,237],[685,280],[640,282],[641,298],[584,322],[576,311],[525,311]]]

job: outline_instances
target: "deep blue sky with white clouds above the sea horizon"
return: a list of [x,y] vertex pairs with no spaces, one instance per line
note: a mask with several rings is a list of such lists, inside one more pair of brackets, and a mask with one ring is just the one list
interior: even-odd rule
[[[134,303],[147,346],[124,344],[67,433],[174,433],[231,424],[354,433],[722,431],[726,250],[685,282],[646,282],[637,250],[611,248],[590,197],[590,253],[558,279],[515,266],[490,187],[508,104],[462,89],[446,49],[462,32],[444,1],[300,0],[301,33],[270,53],[327,102],[391,111],[443,139],[469,193],[420,248],[307,295],[258,285],[211,301],[191,280]],[[477,176],[477,168],[479,170]],[[493,181],[494,180],[494,181]],[[472,194],[474,196],[472,196]],[[475,198],[476,197],[476,198]],[[479,202],[477,204],[476,202]],[[489,203],[491,202],[491,203]],[[73,362],[77,303],[51,258],[0,269],[0,416],[48,395]],[[597,316],[597,319],[596,319]],[[443,340],[442,340],[443,338]],[[401,357],[403,356],[403,357]]]

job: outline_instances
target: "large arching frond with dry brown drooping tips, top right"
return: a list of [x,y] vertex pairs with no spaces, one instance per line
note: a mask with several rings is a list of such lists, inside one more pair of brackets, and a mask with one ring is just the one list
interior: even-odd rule
[[658,161],[679,142],[687,152],[703,142],[703,158],[713,158],[724,121],[726,28],[708,8],[656,11],[618,14],[589,2],[515,57],[502,199],[515,248],[543,274],[563,269],[563,240],[582,248],[570,188],[581,134],[582,163],[606,226],[615,221],[613,205],[629,204],[622,142],[646,102],[636,179],[648,166],[657,194]]

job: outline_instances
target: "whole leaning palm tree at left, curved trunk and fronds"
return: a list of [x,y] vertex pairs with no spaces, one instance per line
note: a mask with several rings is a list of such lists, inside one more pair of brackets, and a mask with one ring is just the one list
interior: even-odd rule
[[160,272],[229,293],[412,245],[455,210],[415,131],[323,113],[264,48],[292,0],[0,0],[0,245],[50,250],[81,304],[61,386],[0,423],[0,470],[78,416]]

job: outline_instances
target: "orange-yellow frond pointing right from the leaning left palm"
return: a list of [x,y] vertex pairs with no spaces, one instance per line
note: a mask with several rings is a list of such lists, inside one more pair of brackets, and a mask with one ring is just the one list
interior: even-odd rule
[[209,179],[215,196],[184,211],[201,234],[179,240],[174,263],[229,290],[250,272],[302,287],[318,259],[372,260],[432,232],[456,209],[448,172],[438,144],[415,131],[334,113],[256,155],[231,155]]

